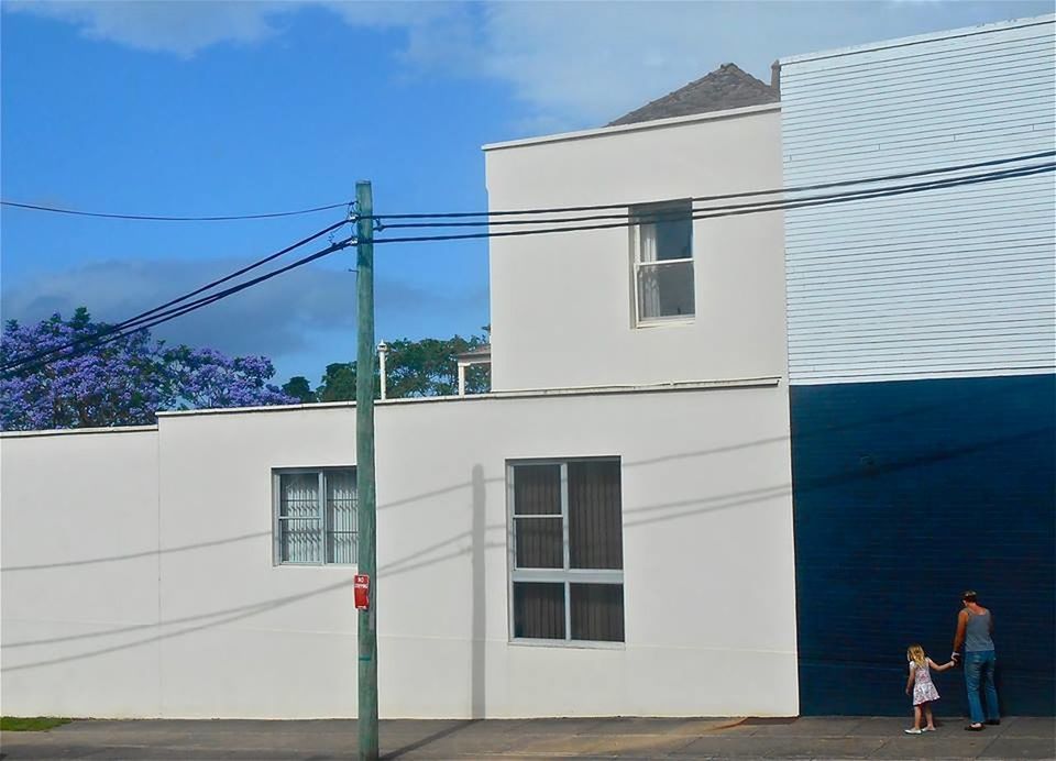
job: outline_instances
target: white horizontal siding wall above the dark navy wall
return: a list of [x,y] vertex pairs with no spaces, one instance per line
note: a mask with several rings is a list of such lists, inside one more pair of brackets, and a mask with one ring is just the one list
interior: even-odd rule
[[[783,60],[784,185],[1052,151],[1054,71],[1052,16]],[[788,211],[792,383],[1052,372],[1054,202],[1043,174]]]

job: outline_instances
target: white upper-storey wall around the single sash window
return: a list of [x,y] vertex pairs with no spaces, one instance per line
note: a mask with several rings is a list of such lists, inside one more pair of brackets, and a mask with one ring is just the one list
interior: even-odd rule
[[[781,184],[780,111],[751,107],[485,146],[493,210],[676,201]],[[701,205],[698,205],[700,207]],[[619,223],[597,220],[580,224]],[[552,227],[552,225],[550,225]],[[637,324],[636,230],[491,240],[496,390],[782,376],[780,212],[692,223],[689,319]],[[671,277],[689,276],[680,265]]]

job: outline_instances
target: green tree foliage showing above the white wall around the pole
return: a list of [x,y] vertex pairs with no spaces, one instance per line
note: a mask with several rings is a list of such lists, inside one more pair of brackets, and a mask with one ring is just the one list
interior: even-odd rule
[[[487,328],[485,328],[485,331]],[[455,356],[487,345],[487,335],[450,339],[399,339],[388,342],[386,375],[389,398],[421,396],[451,396],[459,393],[459,371]],[[380,395],[378,368],[374,367],[374,396]],[[297,378],[290,378],[283,390],[290,396],[298,394],[290,388]],[[306,383],[307,385],[307,383]],[[487,366],[472,366],[465,374],[465,393],[482,394],[491,388]],[[338,362],[327,365],[322,384],[316,389],[319,401],[348,401],[355,399],[355,363]]]

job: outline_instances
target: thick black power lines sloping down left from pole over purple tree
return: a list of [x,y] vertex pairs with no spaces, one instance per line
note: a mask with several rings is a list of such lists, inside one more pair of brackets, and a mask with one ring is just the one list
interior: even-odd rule
[[[50,357],[50,356],[53,355],[53,354],[61,354],[62,352],[64,352],[64,351],[66,351],[66,350],[68,350],[68,349],[75,349],[75,348],[78,348],[78,346],[80,346],[80,345],[82,345],[82,344],[86,344],[86,343],[90,343],[90,344],[91,344],[91,348],[99,346],[99,345],[103,345],[103,344],[106,344],[106,343],[109,343],[111,340],[114,340],[114,341],[116,341],[116,340],[118,340],[118,339],[124,338],[125,335],[130,335],[130,334],[132,334],[132,333],[134,333],[134,332],[138,332],[138,331],[140,331],[140,330],[146,330],[146,329],[152,328],[152,327],[154,327],[154,326],[156,326],[156,324],[161,324],[161,323],[163,323],[163,322],[167,322],[168,320],[176,319],[177,317],[180,317],[180,316],[186,315],[186,313],[188,313],[188,312],[195,311],[196,309],[200,309],[200,308],[202,308],[202,307],[209,306],[210,304],[213,304],[213,302],[219,301],[219,300],[221,300],[221,299],[223,299],[223,298],[227,298],[228,296],[230,296],[230,295],[232,295],[232,294],[237,294],[237,293],[239,293],[240,290],[244,290],[245,288],[249,288],[249,287],[251,287],[251,286],[254,286],[254,285],[256,285],[256,284],[258,284],[258,283],[263,283],[264,280],[268,280],[268,279],[271,279],[272,277],[275,277],[276,275],[280,275],[280,274],[285,273],[285,272],[288,272],[288,271],[294,269],[294,268],[296,268],[296,267],[299,267],[299,266],[302,266],[302,265],[305,265],[305,264],[308,264],[309,262],[315,262],[316,260],[321,258],[322,256],[329,255],[329,254],[333,253],[334,251],[340,251],[341,249],[346,247],[346,246],[350,244],[350,242],[352,241],[352,239],[346,239],[345,241],[342,241],[342,242],[339,242],[339,243],[334,243],[334,244],[328,246],[327,249],[323,249],[323,250],[322,250],[322,253],[317,252],[317,253],[315,253],[315,254],[310,254],[310,255],[308,255],[308,256],[306,256],[306,257],[302,257],[302,258],[294,262],[293,264],[289,264],[289,265],[287,265],[287,266],[285,266],[285,267],[279,268],[279,269],[275,269],[275,271],[273,271],[273,272],[271,272],[271,273],[267,273],[266,275],[262,275],[262,276],[256,277],[256,278],[253,278],[253,279],[251,279],[251,280],[246,280],[245,283],[241,283],[241,284],[239,284],[238,286],[233,286],[233,287],[231,287],[231,288],[227,288],[226,290],[221,290],[221,291],[218,291],[218,293],[216,293],[216,294],[211,294],[211,295],[209,295],[209,296],[205,296],[205,297],[202,297],[202,298],[200,298],[200,299],[197,299],[197,300],[195,300],[195,301],[190,301],[189,304],[185,304],[185,305],[183,305],[182,307],[175,307],[175,306],[174,306],[174,305],[180,304],[182,301],[186,301],[187,299],[189,299],[189,298],[191,298],[191,297],[194,297],[194,296],[197,296],[197,295],[199,295],[199,294],[201,294],[201,293],[204,293],[204,291],[206,291],[206,290],[209,290],[209,289],[211,289],[211,288],[215,288],[215,287],[218,286],[218,285],[221,285],[221,284],[223,284],[223,283],[227,283],[227,282],[231,280],[232,278],[238,277],[239,275],[243,275],[243,274],[250,272],[251,269],[255,269],[256,267],[260,267],[260,266],[262,266],[262,265],[264,265],[264,264],[266,264],[266,263],[268,263],[268,262],[277,258],[278,256],[282,256],[282,255],[284,255],[284,254],[287,254],[287,253],[289,253],[290,251],[293,251],[294,249],[298,249],[298,247],[305,245],[306,243],[309,243],[309,242],[316,240],[317,238],[320,238],[320,236],[322,236],[322,235],[326,235],[327,233],[332,232],[332,231],[337,230],[338,228],[340,228],[340,227],[342,227],[342,225],[344,225],[344,224],[346,224],[346,221],[343,220],[343,221],[341,221],[341,222],[337,222],[337,223],[331,224],[331,225],[329,225],[329,227],[327,227],[327,228],[323,228],[323,229],[320,230],[319,232],[316,232],[316,233],[309,235],[308,238],[301,239],[300,241],[298,241],[298,242],[296,242],[296,243],[294,243],[294,244],[292,244],[292,245],[288,245],[288,246],[286,246],[285,249],[275,252],[274,254],[270,254],[268,256],[265,256],[264,258],[257,260],[256,262],[254,262],[254,263],[252,263],[252,264],[250,264],[250,265],[248,265],[248,266],[245,266],[245,267],[242,267],[241,269],[238,269],[238,271],[231,273],[230,275],[226,275],[224,277],[221,277],[221,278],[216,279],[216,280],[213,280],[213,282],[211,282],[211,283],[208,283],[207,285],[204,285],[204,286],[201,286],[200,288],[196,288],[195,290],[191,290],[191,291],[189,291],[189,293],[187,293],[187,294],[184,294],[183,296],[179,296],[179,297],[177,297],[177,298],[175,298],[175,299],[172,299],[172,300],[169,300],[169,301],[166,301],[165,304],[163,304],[163,305],[161,305],[161,306],[158,306],[158,307],[154,307],[153,309],[148,309],[148,310],[146,310],[145,312],[140,312],[140,313],[136,315],[135,317],[131,317],[131,318],[129,318],[129,319],[127,319],[127,320],[122,320],[121,322],[118,322],[117,324],[113,324],[113,326],[108,326],[105,330],[99,331],[98,333],[96,333],[96,334],[94,334],[94,335],[84,337],[84,338],[77,339],[77,340],[75,340],[75,341],[70,341],[70,342],[68,342],[68,343],[66,343],[66,344],[63,344],[62,346],[55,346],[55,348],[50,349],[50,350],[47,350],[47,351],[38,352],[37,354],[33,354],[33,355],[28,356],[28,357],[22,357],[22,359],[20,359],[20,360],[13,360],[13,361],[11,361],[11,362],[9,362],[9,363],[6,363],[2,367],[0,367],[0,373],[8,373],[8,372],[13,372],[13,371],[15,371],[15,370],[22,370],[23,367],[25,367],[25,366],[28,366],[28,365],[30,365],[30,364],[34,364],[34,363],[36,363],[36,362],[38,362],[38,361],[41,361],[41,360],[51,361],[51,360],[46,360],[46,357]],[[173,307],[173,308],[170,308],[170,307]],[[111,337],[111,335],[113,337],[112,339],[111,339],[111,338],[107,338],[107,337]],[[106,339],[106,340],[100,341],[100,339]],[[56,357],[54,357],[54,359],[58,359],[58,357],[56,356]],[[69,357],[64,357],[64,359],[69,359]]]

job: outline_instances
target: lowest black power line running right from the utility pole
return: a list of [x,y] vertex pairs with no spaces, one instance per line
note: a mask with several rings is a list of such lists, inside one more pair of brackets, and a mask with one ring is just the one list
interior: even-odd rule
[[[740,205],[736,208],[730,208],[724,211],[715,211],[715,209],[704,209],[698,210],[691,214],[684,214],[681,219],[715,219],[719,217],[737,217],[740,214],[751,214],[751,213],[761,213],[767,211],[784,211],[788,209],[801,209],[810,208],[814,206],[827,206],[829,203],[846,203],[848,201],[857,200],[868,200],[872,198],[887,198],[890,196],[902,196],[909,192],[922,192],[925,190],[936,190],[943,188],[957,187],[961,185],[978,185],[980,183],[994,181],[999,179],[1008,179],[1013,177],[1028,177],[1031,175],[1044,174],[1053,172],[1056,169],[1056,163],[1050,164],[1041,164],[1033,165],[1028,167],[1018,167],[1015,169],[1005,169],[1003,172],[996,172],[982,175],[969,175],[967,177],[955,177],[943,180],[935,180],[931,183],[921,183],[916,185],[901,186],[899,189],[889,190],[887,188],[877,188],[873,190],[857,190],[847,194],[838,194],[834,196],[818,196],[814,198],[805,198],[801,200],[789,200],[789,201],[761,201],[758,203]],[[716,207],[717,208],[717,207]],[[382,243],[420,243],[420,242],[432,242],[432,241],[466,241],[466,240],[477,240],[477,239],[491,239],[491,238],[512,238],[519,235],[538,235],[547,233],[559,233],[559,232],[580,232],[587,230],[613,230],[617,228],[627,228],[641,223],[644,220],[641,217],[628,217],[626,213],[619,216],[624,221],[622,222],[609,222],[605,224],[584,224],[584,225],[574,225],[574,227],[557,227],[557,228],[537,228],[532,230],[506,230],[499,232],[474,232],[474,233],[458,233],[452,235],[411,235],[405,238],[375,238],[375,244]],[[537,220],[536,223],[546,223],[559,220]]]

